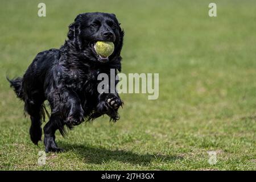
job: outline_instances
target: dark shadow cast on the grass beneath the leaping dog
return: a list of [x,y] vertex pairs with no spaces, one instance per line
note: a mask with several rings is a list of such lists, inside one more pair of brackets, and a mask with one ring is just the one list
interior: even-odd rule
[[159,154],[136,154],[125,150],[108,150],[101,147],[91,147],[81,144],[67,144],[59,142],[59,146],[65,151],[72,151],[81,155],[86,163],[102,164],[108,161],[119,161],[123,163],[147,165],[155,160],[156,162],[175,162],[182,160],[181,156],[159,155]]

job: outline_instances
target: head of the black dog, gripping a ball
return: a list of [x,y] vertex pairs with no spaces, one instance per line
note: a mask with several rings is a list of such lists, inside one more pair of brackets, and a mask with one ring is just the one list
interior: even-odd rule
[[[68,39],[77,51],[87,59],[106,63],[120,57],[124,32],[114,14],[84,13],[77,15],[75,22],[69,25]],[[114,52],[109,57],[101,57],[94,49],[97,41],[114,43]]]

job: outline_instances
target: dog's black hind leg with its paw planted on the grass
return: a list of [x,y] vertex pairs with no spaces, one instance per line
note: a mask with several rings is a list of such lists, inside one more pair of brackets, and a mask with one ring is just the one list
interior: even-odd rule
[[46,152],[61,152],[62,148],[59,148],[55,142],[55,131],[59,129],[62,133],[64,131],[64,125],[61,119],[52,114],[49,122],[44,126],[44,146],[46,147]]

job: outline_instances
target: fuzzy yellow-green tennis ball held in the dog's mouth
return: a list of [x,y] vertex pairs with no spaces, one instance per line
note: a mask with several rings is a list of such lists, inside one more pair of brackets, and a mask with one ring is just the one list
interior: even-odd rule
[[94,45],[95,51],[101,57],[108,57],[112,55],[112,53],[114,52],[114,48],[115,46],[113,42],[98,41]]

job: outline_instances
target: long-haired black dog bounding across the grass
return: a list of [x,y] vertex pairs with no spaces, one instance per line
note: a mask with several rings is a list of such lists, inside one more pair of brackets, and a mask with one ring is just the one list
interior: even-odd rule
[[[98,93],[97,76],[110,75],[110,69],[115,69],[115,74],[121,71],[123,36],[114,14],[79,14],[69,25],[64,46],[38,53],[23,78],[8,79],[16,95],[24,101],[25,113],[30,115],[33,143],[41,140],[41,124],[46,114],[49,117],[44,126],[46,152],[62,151],[55,143],[57,129],[64,135],[64,126],[71,129],[84,118],[93,121],[103,114],[113,121],[119,119],[117,110],[123,102],[116,92]],[[97,55],[94,44],[99,40],[114,43],[112,55]],[[51,116],[44,106],[45,100],[51,107]]]

